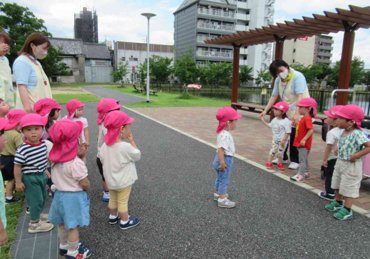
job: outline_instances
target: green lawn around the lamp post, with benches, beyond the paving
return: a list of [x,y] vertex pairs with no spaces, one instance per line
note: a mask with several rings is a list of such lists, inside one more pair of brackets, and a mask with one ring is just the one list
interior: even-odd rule
[[[108,90],[120,91],[126,94],[137,95],[146,98],[146,93],[137,92],[132,85],[125,87],[104,87]],[[230,106],[229,100],[221,100],[215,98],[198,97],[190,94],[170,94],[168,92],[158,92],[150,94],[149,103],[143,99],[142,102],[125,105],[129,108],[147,108],[147,107],[223,107]]]

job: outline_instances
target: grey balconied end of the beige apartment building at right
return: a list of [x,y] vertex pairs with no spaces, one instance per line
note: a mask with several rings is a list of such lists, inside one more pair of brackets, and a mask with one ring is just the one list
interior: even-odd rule
[[313,64],[332,63],[334,38],[327,35],[316,36],[313,50]]

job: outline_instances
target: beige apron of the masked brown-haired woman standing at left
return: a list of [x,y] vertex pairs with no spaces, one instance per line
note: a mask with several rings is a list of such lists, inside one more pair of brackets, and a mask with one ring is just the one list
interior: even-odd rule
[[[33,109],[33,105],[38,100],[42,98],[53,98],[53,96],[51,95],[50,83],[41,65],[36,65],[26,55],[20,55],[19,58],[28,62],[31,65],[31,67],[35,70],[36,75],[37,75],[36,87],[31,91],[27,89],[28,98],[30,99],[31,108]],[[44,83],[44,80],[46,81],[46,85]],[[18,87],[17,87],[16,109],[24,110],[24,107],[23,107],[23,104],[22,104],[22,101],[19,95]]]

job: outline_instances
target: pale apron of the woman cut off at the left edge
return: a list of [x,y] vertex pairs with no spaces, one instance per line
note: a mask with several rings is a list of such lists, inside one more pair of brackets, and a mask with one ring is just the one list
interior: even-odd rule
[[10,109],[14,109],[13,80],[11,69],[6,58],[0,56],[0,98],[3,99]]

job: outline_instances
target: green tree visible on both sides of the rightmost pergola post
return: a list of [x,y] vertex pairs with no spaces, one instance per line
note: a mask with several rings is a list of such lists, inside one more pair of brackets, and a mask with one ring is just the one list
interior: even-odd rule
[[[366,75],[364,71],[365,62],[359,56],[354,56],[352,60],[351,77],[349,86],[353,87],[355,84],[362,84]],[[333,67],[333,72],[328,76],[327,84],[333,87],[338,86],[339,81],[340,61],[337,61]]]

